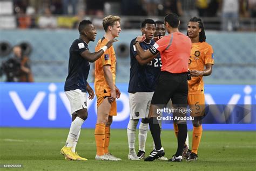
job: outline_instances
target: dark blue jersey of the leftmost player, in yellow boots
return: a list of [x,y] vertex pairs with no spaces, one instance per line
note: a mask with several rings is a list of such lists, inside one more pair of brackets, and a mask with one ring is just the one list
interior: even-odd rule
[[86,92],[90,62],[81,56],[86,50],[89,50],[88,45],[82,39],[74,40],[69,48],[69,75],[66,77],[65,91],[80,89]]

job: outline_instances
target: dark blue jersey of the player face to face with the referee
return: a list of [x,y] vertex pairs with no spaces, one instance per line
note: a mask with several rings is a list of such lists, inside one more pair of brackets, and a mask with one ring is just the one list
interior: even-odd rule
[[[152,92],[156,89],[156,83],[160,74],[161,58],[158,55],[151,62],[141,66],[135,58],[137,55],[136,47],[133,45],[135,40],[133,39],[130,45],[131,66],[128,92]],[[140,46],[146,51],[154,43],[154,40],[151,40],[149,44],[143,41],[140,42]]]

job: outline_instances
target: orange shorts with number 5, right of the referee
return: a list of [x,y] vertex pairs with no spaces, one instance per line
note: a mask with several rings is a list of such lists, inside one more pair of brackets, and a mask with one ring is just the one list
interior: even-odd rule
[[198,117],[205,115],[205,95],[204,94],[188,94],[187,103],[190,105],[192,112],[191,117]]

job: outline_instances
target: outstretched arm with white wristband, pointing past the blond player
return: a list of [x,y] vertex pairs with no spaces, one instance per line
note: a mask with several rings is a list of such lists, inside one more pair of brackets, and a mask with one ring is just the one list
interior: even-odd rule
[[97,59],[100,58],[106,51],[106,49],[110,48],[113,45],[113,42],[117,41],[117,39],[112,39],[107,42],[106,46],[103,46],[99,51],[91,53],[90,51],[86,50],[81,55],[84,59],[86,59],[89,62],[94,62]]

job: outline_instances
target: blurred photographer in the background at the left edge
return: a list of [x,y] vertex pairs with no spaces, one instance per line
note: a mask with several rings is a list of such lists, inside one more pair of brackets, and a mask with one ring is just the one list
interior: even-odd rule
[[12,49],[14,57],[3,62],[3,72],[6,74],[6,82],[33,82],[30,69],[30,60],[22,55],[22,48],[15,46]]

